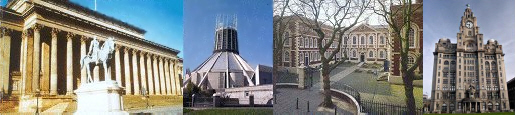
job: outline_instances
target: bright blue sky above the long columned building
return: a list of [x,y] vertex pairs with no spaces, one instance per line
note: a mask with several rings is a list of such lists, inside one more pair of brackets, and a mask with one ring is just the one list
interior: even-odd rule
[[[94,0],[70,1],[95,7]],[[97,0],[97,11],[146,30],[145,39],[177,49],[183,57],[182,4],[182,0]]]

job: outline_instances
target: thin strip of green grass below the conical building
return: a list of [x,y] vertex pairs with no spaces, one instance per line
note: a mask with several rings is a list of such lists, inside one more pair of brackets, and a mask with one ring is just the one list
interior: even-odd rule
[[245,108],[245,109],[184,109],[185,115],[271,115],[273,109]]

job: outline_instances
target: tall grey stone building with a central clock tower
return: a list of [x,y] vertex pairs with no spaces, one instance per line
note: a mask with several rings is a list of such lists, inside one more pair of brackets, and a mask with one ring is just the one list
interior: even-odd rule
[[510,110],[503,47],[483,43],[477,18],[467,7],[457,43],[442,38],[433,53],[431,110],[434,113],[476,113]]

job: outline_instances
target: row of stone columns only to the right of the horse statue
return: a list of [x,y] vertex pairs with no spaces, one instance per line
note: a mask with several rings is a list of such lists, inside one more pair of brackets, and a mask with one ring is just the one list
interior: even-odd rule
[[[121,72],[122,66],[120,63],[121,48],[121,46],[115,48],[114,60],[117,73]],[[176,88],[180,87],[178,84],[178,80],[180,80],[178,74],[180,73],[175,69],[178,66],[177,60],[129,47],[123,47],[123,54],[125,74],[124,76],[116,74],[116,81],[120,86],[125,87],[127,95],[141,95],[141,89],[145,89],[149,95],[181,95],[180,88]],[[129,59],[129,55],[132,56],[132,60]],[[130,67],[132,67],[132,71]],[[121,84],[122,77],[125,78],[124,86]]]

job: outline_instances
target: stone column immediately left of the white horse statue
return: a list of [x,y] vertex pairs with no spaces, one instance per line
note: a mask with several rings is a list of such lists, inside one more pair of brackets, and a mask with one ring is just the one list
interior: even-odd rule
[[73,94],[73,36],[73,33],[66,36],[66,95]]

